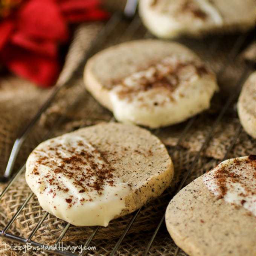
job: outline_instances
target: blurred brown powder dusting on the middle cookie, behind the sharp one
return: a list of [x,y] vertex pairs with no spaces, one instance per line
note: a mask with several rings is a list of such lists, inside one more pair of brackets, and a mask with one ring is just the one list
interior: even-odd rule
[[[119,98],[128,100],[140,91],[164,89],[169,93],[170,100],[174,101],[171,93],[181,83],[188,82],[195,75],[201,77],[209,73],[210,71],[201,62],[184,60],[174,55],[152,63],[147,69],[138,70],[122,80],[112,81],[106,88],[112,90],[119,87],[117,91]],[[154,105],[157,106],[158,102]]]

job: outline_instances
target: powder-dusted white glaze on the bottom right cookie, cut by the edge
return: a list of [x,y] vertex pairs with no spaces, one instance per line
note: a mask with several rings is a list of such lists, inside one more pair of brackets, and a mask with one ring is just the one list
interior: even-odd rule
[[203,181],[216,197],[256,216],[256,155],[226,160],[204,174]]

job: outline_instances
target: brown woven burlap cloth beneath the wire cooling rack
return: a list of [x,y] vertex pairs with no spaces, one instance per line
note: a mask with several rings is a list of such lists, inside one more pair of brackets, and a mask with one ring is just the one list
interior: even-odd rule
[[[120,3],[123,5],[122,1],[120,1]],[[72,70],[77,69],[78,60],[81,59],[86,50],[88,50],[91,41],[98,34],[103,25],[104,24],[102,23],[84,24],[78,28],[75,34],[75,40],[70,47],[60,80],[62,79],[63,81],[66,81],[66,79],[72,75]],[[103,47],[117,43],[120,40],[131,39],[131,35],[121,37],[123,30],[127,25],[128,23],[126,21],[119,24],[114,30],[114,33],[108,37],[108,40],[104,43]],[[133,38],[142,38],[144,34],[145,29],[139,27],[136,33],[134,33]],[[203,144],[213,122],[226,101],[227,95],[233,91],[236,81],[239,76],[241,76],[243,70],[245,68],[250,70],[249,67],[245,66],[246,64],[244,60],[239,58],[239,56],[238,58],[233,59],[229,66],[224,70],[225,60],[229,56],[229,51],[232,48],[231,46],[237,37],[238,35],[230,35],[227,37],[228,40],[227,38],[217,37],[215,40],[212,40],[212,38],[204,38],[201,40],[187,40],[186,38],[183,38],[180,40],[185,44],[189,44],[189,46],[197,51],[198,54],[210,64],[213,70],[219,74],[218,79],[222,93],[217,94],[214,97],[210,110],[198,115],[191,129],[177,148],[175,148],[175,145],[186,122],[152,131],[155,135],[160,137],[168,147],[175,165],[175,177],[168,192],[164,192],[161,197],[149,202],[143,207],[128,232],[128,235],[126,235],[120,245],[118,254],[140,255],[143,253],[152,232],[154,232],[154,228],[157,226],[165,212],[166,206],[171,198],[170,194],[174,193],[184,172],[189,169],[189,166],[193,162],[195,155]],[[216,42],[216,46],[213,45],[212,41]],[[242,46],[245,45],[246,44],[242,44]],[[233,56],[231,56],[231,58],[233,58]],[[72,77],[68,86],[58,93],[51,107],[43,114],[40,122],[37,123],[33,131],[29,134],[18,155],[17,163],[15,165],[16,171],[24,164],[31,150],[42,140],[75,130],[79,127],[99,122],[108,122],[110,120],[113,121],[112,114],[101,107],[101,105],[99,105],[90,94],[85,91],[82,82],[82,69],[78,70],[78,74],[79,75]],[[1,172],[5,169],[12,144],[14,143],[18,131],[20,131],[20,128],[23,127],[23,125],[36,113],[50,91],[51,90],[37,88],[29,82],[14,76],[8,76],[1,79]],[[235,108],[236,104],[234,102],[216,127],[213,139],[210,141],[206,150],[200,155],[200,158],[186,183],[189,183],[205,171],[213,168],[219,160],[224,157],[227,148],[229,148],[229,145],[232,142],[234,134],[239,128],[239,120]],[[252,153],[255,153],[255,140],[242,131],[233,146],[229,157]],[[0,190],[2,190],[4,186],[5,184],[0,185]],[[0,203],[0,229],[6,225],[8,220],[14,215],[30,192],[31,190],[26,185],[24,174],[21,174]],[[27,238],[43,215],[44,211],[39,206],[37,198],[32,197],[8,232]],[[90,244],[91,246],[96,246],[96,250],[90,251],[88,255],[107,255],[110,253],[131,217],[132,214],[111,221],[110,225],[106,228],[101,227]],[[40,229],[34,235],[33,240],[44,244],[54,244],[65,225],[66,223],[64,221],[61,221],[52,215],[48,215]],[[82,245],[92,231],[92,227],[71,226],[62,241],[64,242],[64,245]],[[22,253],[19,250],[10,250],[8,248],[8,246],[13,243],[2,238],[0,238],[0,241],[1,255],[20,255]],[[163,225],[155,238],[149,254],[172,255],[175,250],[176,246]],[[23,253],[23,255],[42,254],[41,251],[29,251]],[[186,254],[180,250],[179,255]]]

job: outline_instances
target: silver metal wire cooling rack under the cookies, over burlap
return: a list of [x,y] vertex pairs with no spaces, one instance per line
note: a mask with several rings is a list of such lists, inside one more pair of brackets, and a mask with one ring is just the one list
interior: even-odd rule
[[[115,14],[113,14],[111,19],[107,22],[107,24],[104,26],[104,29],[99,33],[96,40],[93,41],[93,44],[92,44],[90,50],[88,51],[88,54],[85,56],[85,58],[81,62],[81,65],[80,65],[81,67],[83,67],[85,65],[85,62],[87,61],[87,59],[90,56],[92,56],[95,52],[97,52],[98,50],[100,50],[102,48],[102,45],[104,43],[105,43],[105,45],[106,45],[106,43],[108,44],[108,38],[110,37],[111,33],[113,33],[117,29],[117,27],[119,27],[119,26],[121,26],[121,30],[123,30],[124,32],[120,35],[120,37],[118,39],[116,38],[115,43],[128,41],[128,40],[131,40],[131,39],[134,39],[134,38],[136,38],[136,39],[137,38],[153,38],[153,36],[145,29],[145,27],[143,27],[143,25],[142,25],[142,23],[141,23],[141,21],[140,21],[140,19],[137,15],[134,15],[132,20],[127,20],[122,14],[120,14],[119,12],[116,12]],[[125,29],[123,29],[123,27],[125,27]],[[206,41],[204,39],[203,40],[191,40],[191,39],[188,39],[188,38],[181,38],[181,39],[178,39],[177,41],[179,41],[181,43],[184,43],[184,44],[187,44],[192,49],[195,46],[196,47],[201,47],[202,44],[206,43]],[[236,40],[233,41],[232,47],[230,48],[229,53],[226,56],[226,59],[224,59],[222,61],[221,67],[219,68],[219,70],[217,72],[218,79],[223,75],[223,73],[225,72],[227,67],[229,67],[229,65],[235,61],[236,56],[238,56],[239,52],[241,51],[241,47],[244,46],[246,41],[248,41],[248,34],[240,34],[238,37],[236,37]],[[204,47],[207,47],[209,49],[208,50],[208,56],[206,56],[206,61],[207,61],[207,58],[209,56],[214,55],[216,53],[220,43],[221,43],[221,37],[218,37],[218,39],[216,39],[216,40],[208,40],[208,45],[207,46],[204,45]],[[81,69],[78,69],[78,70],[80,70],[80,71],[74,73],[73,76],[77,76],[77,75],[81,76],[82,75]],[[207,145],[209,144],[210,140],[214,137],[216,127],[221,122],[224,115],[227,113],[228,110],[230,110],[230,108],[232,109],[232,111],[235,112],[235,110],[232,107],[233,107],[233,104],[234,104],[235,100],[238,97],[238,94],[239,94],[239,91],[240,91],[240,88],[241,88],[241,84],[245,81],[245,79],[248,76],[248,70],[250,70],[250,69],[248,69],[248,67],[245,66],[243,72],[241,73],[241,76],[236,81],[235,90],[233,90],[233,93],[230,94],[226,98],[226,101],[225,101],[221,111],[219,112],[218,116],[216,117],[215,122],[214,122],[213,126],[211,127],[209,133],[207,134],[200,150],[197,151],[197,154],[195,155],[194,160],[192,161],[189,169],[187,169],[186,173],[184,174],[183,179],[179,181],[178,187],[177,187],[175,193],[174,194],[169,193],[170,194],[170,200],[184,186],[185,181],[187,180],[187,178],[189,177],[189,175],[191,174],[191,172],[195,168],[195,166],[197,164],[197,161],[200,157],[201,152],[203,152],[207,148]],[[65,85],[66,84],[62,84],[61,86],[58,86],[53,90],[53,93],[51,94],[50,98],[45,102],[45,104],[38,111],[38,113],[36,114],[34,119],[29,123],[29,125],[27,125],[27,127],[21,132],[21,135],[17,138],[17,140],[14,144],[14,147],[12,149],[7,168],[6,168],[6,173],[5,173],[6,177],[8,177],[8,175],[10,175],[11,172],[12,172],[12,169],[13,169],[14,162],[15,162],[15,159],[17,157],[18,151],[20,149],[21,144],[26,139],[27,134],[29,134],[30,130],[34,127],[35,123],[37,123],[41,114],[44,113],[44,111],[46,111],[47,108],[50,106],[50,104],[54,101],[56,94],[58,94],[58,92],[63,87],[65,87]],[[175,152],[175,150],[179,150],[180,143],[184,140],[186,135],[189,134],[190,128],[192,127],[192,125],[193,125],[193,123],[195,122],[196,119],[197,119],[197,116],[192,117],[189,120],[187,120],[186,122],[184,122],[183,131],[180,133],[180,136],[178,138],[178,142],[177,142],[176,146],[173,148],[172,152]],[[153,132],[156,133],[156,131],[153,131]],[[222,160],[225,160],[229,156],[229,153],[232,150],[233,146],[235,145],[236,141],[238,140],[241,132],[242,132],[242,127],[241,127],[241,125],[239,125],[236,132],[235,132],[235,135],[233,136],[232,142],[230,143],[229,147],[227,148],[226,154],[225,154],[225,156]],[[47,137],[50,137],[49,134],[48,134]],[[3,192],[0,194],[0,200],[3,198],[3,195],[8,193],[8,190],[11,188],[14,181],[17,180],[17,177],[19,175],[23,174],[24,169],[25,169],[25,165],[23,165],[15,175],[12,175],[12,178],[9,181],[8,185],[5,187]],[[29,194],[29,196],[26,198],[26,200],[24,201],[24,203],[20,206],[20,208],[14,214],[14,216],[12,216],[12,218],[9,220],[8,224],[4,227],[3,230],[0,231],[0,234],[2,235],[2,237],[5,238],[5,239],[14,241],[14,242],[21,243],[21,244],[30,243],[32,246],[40,246],[40,247],[45,246],[46,247],[45,251],[48,251],[49,253],[55,253],[55,254],[58,254],[58,255],[68,255],[68,256],[75,256],[75,255],[82,256],[82,255],[84,255],[86,253],[85,250],[83,250],[79,254],[72,253],[71,251],[65,251],[65,250],[59,250],[59,249],[49,250],[49,249],[47,249],[47,244],[43,244],[43,243],[33,241],[33,236],[35,235],[37,230],[40,228],[41,224],[46,219],[46,217],[49,215],[49,213],[47,213],[47,212],[44,213],[43,217],[40,219],[37,226],[34,228],[32,233],[30,233],[28,238],[12,235],[11,233],[8,233],[9,228],[11,227],[11,225],[13,224],[13,222],[15,221],[17,216],[21,213],[23,208],[26,206],[26,204],[29,202],[30,198],[32,198],[32,196],[33,196],[33,193],[31,192]],[[140,214],[140,211],[141,211],[141,208],[136,210],[136,212],[134,212],[133,214],[131,214],[131,216],[132,216],[131,220],[130,220],[129,224],[126,226],[125,230],[123,231],[123,234],[120,236],[119,240],[117,241],[117,243],[113,247],[113,250],[110,253],[111,256],[113,256],[117,252],[120,244],[122,243],[123,239],[125,238],[126,234],[129,231],[129,229],[133,225],[135,219]],[[163,224],[164,217],[165,216],[163,215],[162,219],[158,223],[157,228],[152,233],[152,236],[149,239],[148,244],[147,244],[147,246],[146,246],[146,248],[143,252],[144,255],[148,254],[149,249],[151,248],[151,245],[154,243],[154,239],[157,236],[157,233],[158,233],[161,225]],[[65,236],[69,227],[70,227],[70,224],[67,223],[65,228],[62,230],[61,235],[56,240],[55,245],[58,245],[58,243],[61,242],[62,238]],[[88,247],[90,245],[90,242],[92,241],[92,239],[94,238],[94,236],[98,232],[98,229],[99,229],[99,226],[94,228],[94,231],[91,233],[90,237],[85,242],[84,247]],[[177,255],[179,253],[179,251],[181,251],[181,250],[177,247],[174,255]]]

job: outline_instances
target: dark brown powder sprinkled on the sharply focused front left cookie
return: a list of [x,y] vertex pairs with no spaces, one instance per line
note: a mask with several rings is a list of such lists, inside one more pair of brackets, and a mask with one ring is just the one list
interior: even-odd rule
[[[66,187],[61,179],[62,177],[72,180],[79,193],[95,190],[101,195],[105,184],[115,186],[113,179],[114,169],[110,167],[101,153],[96,149],[87,151],[85,143],[82,141],[78,141],[77,145],[80,149],[62,144],[51,146],[50,151],[47,152],[48,156],[39,157],[36,161],[37,168],[33,170],[34,175],[39,174],[38,169],[40,166],[46,166],[51,170],[44,175],[46,179],[44,190],[49,187],[47,189],[48,193],[53,194],[53,197],[56,196],[56,191],[69,192],[69,188]],[[61,151],[69,154],[62,154]],[[39,153],[40,151],[38,151]],[[65,201],[70,204],[70,207],[75,203],[73,200],[71,204],[71,198],[66,198]],[[92,201],[92,199],[89,201]]]

